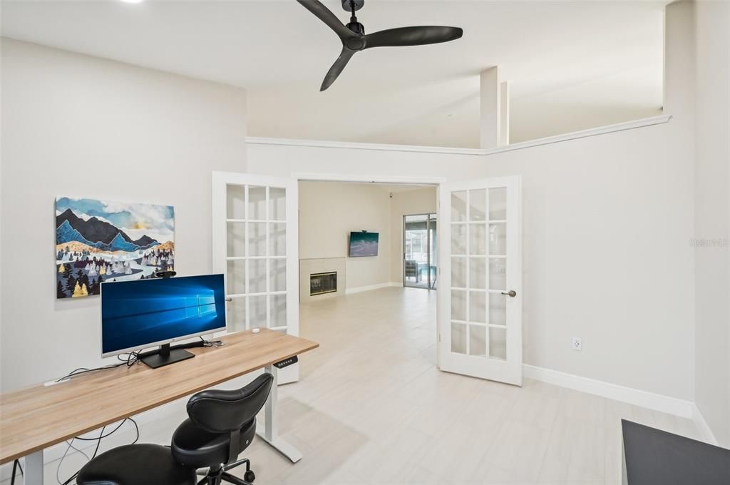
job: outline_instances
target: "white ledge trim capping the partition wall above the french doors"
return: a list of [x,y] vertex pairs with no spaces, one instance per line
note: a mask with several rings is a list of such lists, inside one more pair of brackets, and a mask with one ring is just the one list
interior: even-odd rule
[[[478,148],[449,148],[449,147],[424,147],[415,145],[385,145],[383,143],[355,143],[355,142],[330,142],[320,140],[291,140],[286,138],[264,138],[264,137],[246,137],[246,142],[250,145],[278,145],[278,146],[296,146],[296,147],[313,147],[313,148],[344,148],[357,150],[383,150],[394,152],[415,152],[415,153],[449,153],[452,155],[471,155],[484,156],[493,155],[494,153],[502,153],[512,150],[522,150],[523,148],[537,147],[539,145],[550,145],[551,143],[566,142],[568,140],[577,140],[585,137],[595,137],[599,134],[615,133],[616,131],[625,131],[645,126],[661,125],[669,123],[672,115],[658,115],[650,118],[641,118],[639,120],[625,121],[623,123],[615,123],[613,125],[599,126],[580,131],[572,131],[571,133],[559,134],[553,137],[538,138],[537,140],[529,140],[526,142],[513,143],[499,148],[491,148],[482,150]],[[311,180],[329,180],[321,176]],[[371,181],[371,180],[364,180]],[[411,182],[413,183],[413,182]]]

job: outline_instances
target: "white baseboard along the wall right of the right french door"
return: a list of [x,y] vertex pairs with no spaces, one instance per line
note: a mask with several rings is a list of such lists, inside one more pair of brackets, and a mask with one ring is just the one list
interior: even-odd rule
[[677,397],[618,386],[617,384],[596,381],[596,379],[535,367],[529,364],[524,364],[523,370],[526,378],[536,381],[547,382],[555,386],[587,392],[588,394],[596,394],[596,396],[607,397],[616,401],[628,402],[642,408],[658,410],[662,413],[674,414],[683,418],[693,419],[695,416],[694,402],[678,399]]

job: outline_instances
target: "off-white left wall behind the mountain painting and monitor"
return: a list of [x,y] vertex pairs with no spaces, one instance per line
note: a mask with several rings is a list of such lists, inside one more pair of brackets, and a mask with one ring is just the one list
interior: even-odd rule
[[245,91],[2,39],[2,390],[100,362],[99,298],[55,299],[55,196],[175,207],[211,270],[210,172],[245,171]]

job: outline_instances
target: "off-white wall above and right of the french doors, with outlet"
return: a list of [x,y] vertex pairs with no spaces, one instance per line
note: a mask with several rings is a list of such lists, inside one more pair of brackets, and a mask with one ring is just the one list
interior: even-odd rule
[[680,126],[491,156],[249,145],[248,164],[276,175],[522,175],[525,362],[689,400],[693,190]]

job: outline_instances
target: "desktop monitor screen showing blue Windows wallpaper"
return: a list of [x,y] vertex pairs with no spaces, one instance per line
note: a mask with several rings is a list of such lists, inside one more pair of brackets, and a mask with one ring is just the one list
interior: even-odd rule
[[223,275],[101,284],[104,357],[223,329]]

